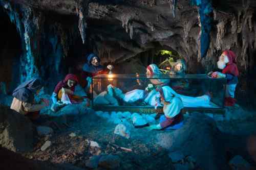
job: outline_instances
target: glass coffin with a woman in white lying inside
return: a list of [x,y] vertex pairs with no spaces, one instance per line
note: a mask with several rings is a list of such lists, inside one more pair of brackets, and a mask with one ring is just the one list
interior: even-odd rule
[[[170,86],[184,109],[223,110],[225,78],[207,75],[98,75],[92,79],[93,108],[102,111],[156,112],[162,86]],[[144,109],[144,110],[143,110]]]

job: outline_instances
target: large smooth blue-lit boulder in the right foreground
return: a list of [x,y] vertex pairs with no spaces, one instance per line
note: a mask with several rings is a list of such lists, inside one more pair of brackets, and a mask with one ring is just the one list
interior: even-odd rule
[[193,113],[182,128],[160,133],[157,140],[170,153],[179,151],[193,156],[203,169],[228,169],[221,132],[209,116]]

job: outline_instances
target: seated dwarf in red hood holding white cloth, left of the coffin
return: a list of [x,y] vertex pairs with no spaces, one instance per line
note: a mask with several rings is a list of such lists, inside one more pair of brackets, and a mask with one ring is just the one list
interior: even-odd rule
[[68,74],[64,80],[60,81],[56,85],[52,93],[52,111],[57,111],[67,104],[77,104],[83,102],[85,97],[74,95],[75,86],[77,83],[77,77],[73,74]]

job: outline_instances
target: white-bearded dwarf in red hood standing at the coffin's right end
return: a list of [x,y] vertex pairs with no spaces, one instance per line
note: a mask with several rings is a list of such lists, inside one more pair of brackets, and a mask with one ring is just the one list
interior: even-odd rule
[[233,106],[236,103],[234,92],[238,84],[238,67],[236,64],[236,55],[231,50],[225,50],[217,62],[218,68],[222,72],[213,72],[213,78],[227,78],[225,106]]

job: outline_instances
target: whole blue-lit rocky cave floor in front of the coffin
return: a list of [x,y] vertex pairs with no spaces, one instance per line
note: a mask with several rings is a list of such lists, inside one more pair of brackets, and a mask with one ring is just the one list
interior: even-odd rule
[[[224,116],[186,113],[184,126],[175,131],[134,127],[158,123],[155,114],[140,117],[129,112],[94,112],[84,105],[66,106],[57,113],[49,108],[44,110],[44,114],[51,117],[42,115],[50,122],[41,126],[50,128],[39,129],[39,125],[32,125],[28,119],[23,118],[22,123],[18,123],[21,115],[8,107],[2,106],[1,111],[0,144],[22,153],[26,161],[42,164],[33,169],[43,165],[53,169],[69,169],[70,166],[82,169],[256,167],[256,137],[253,135],[256,118],[254,113],[239,106],[226,108]],[[21,152],[20,148],[26,152]]]

